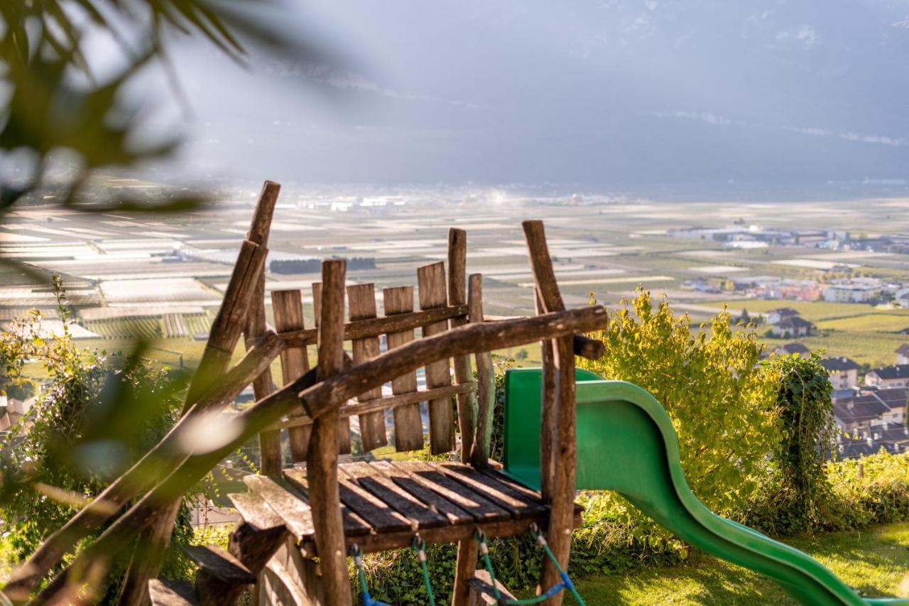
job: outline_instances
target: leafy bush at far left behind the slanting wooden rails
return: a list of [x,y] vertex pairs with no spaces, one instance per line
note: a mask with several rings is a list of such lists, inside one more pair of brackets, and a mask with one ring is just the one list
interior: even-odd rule
[[[65,308],[61,311],[67,320]],[[161,439],[179,416],[178,394],[185,387],[183,377],[148,365],[141,350],[129,356],[80,351],[66,330],[45,338],[37,312],[0,333],[6,389],[28,383],[22,372],[35,362],[48,378],[35,405],[0,446],[0,528],[12,560],[35,550]],[[184,507],[173,539],[185,543],[191,536]],[[188,563],[171,552],[165,575],[186,576]],[[117,575],[113,578],[107,598],[116,591]]]

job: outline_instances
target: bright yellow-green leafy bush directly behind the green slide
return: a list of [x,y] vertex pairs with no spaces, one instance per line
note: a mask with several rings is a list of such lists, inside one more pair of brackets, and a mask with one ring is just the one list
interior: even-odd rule
[[642,290],[623,303],[591,335],[606,355],[580,366],[653,394],[673,421],[694,494],[738,517],[767,478],[781,439],[776,370],[758,364],[763,345],[754,328],[734,329],[724,310],[693,330],[687,315],[676,316],[665,299],[654,305]]

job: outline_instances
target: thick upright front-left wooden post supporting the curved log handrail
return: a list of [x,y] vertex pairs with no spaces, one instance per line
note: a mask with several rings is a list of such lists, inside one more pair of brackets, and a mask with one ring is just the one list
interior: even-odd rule
[[[345,261],[324,261],[319,310],[318,378],[324,381],[344,367]],[[306,458],[309,499],[313,505],[315,543],[325,590],[332,604],[351,603],[344,525],[338,490],[337,407],[315,419]]]

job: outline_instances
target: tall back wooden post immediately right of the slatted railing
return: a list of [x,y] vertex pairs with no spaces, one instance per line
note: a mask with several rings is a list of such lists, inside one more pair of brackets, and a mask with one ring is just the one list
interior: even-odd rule
[[[448,305],[467,303],[467,234],[463,229],[452,227],[448,231]],[[467,318],[452,318],[451,328],[467,323]],[[466,383],[474,379],[470,356],[456,356],[454,362],[454,380]],[[470,462],[474,449],[474,432],[476,430],[476,394],[463,393],[457,397],[457,421],[461,429],[461,462]],[[471,575],[473,576],[473,575]],[[466,582],[466,581],[465,581]]]

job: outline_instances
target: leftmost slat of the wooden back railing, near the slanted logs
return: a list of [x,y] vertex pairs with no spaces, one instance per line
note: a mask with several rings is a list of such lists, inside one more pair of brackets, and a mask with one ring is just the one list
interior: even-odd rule
[[[273,290],[272,309],[275,312],[275,330],[297,330],[305,328],[303,317],[303,293],[299,290]],[[281,376],[284,384],[295,381],[309,370],[309,353],[305,347],[288,347],[281,352]],[[297,410],[291,418],[303,414]],[[294,426],[287,430],[290,443],[290,458],[295,463],[306,460],[309,448],[309,431],[307,426]]]

